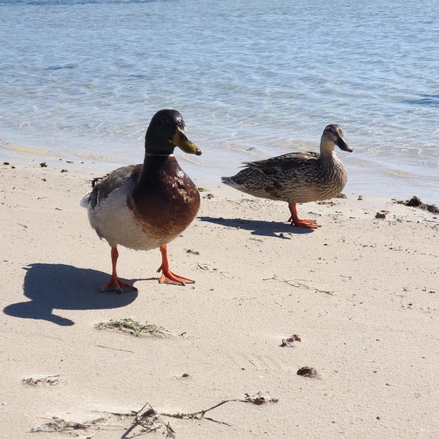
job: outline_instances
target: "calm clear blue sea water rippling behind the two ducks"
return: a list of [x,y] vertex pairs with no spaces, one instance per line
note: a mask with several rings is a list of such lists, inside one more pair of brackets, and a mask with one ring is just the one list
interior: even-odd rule
[[439,200],[439,1],[0,0],[0,87],[2,140],[140,162],[171,107],[217,179],[337,122],[347,192]]

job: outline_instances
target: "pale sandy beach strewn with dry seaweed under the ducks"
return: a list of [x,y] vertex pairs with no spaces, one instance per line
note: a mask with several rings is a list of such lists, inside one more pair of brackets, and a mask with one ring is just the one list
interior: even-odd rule
[[[194,413],[258,392],[279,401],[161,415],[147,437],[167,422],[179,439],[437,437],[438,215],[346,190],[298,206],[322,226],[308,231],[284,203],[197,180],[200,212],[168,246],[196,283],[160,285],[159,250],[120,248],[139,292],[101,293],[110,248],[80,207],[99,176],[83,167],[0,164],[2,438],[131,438],[146,403]],[[127,318],[168,332],[95,327]],[[47,432],[60,419],[94,423]]]

